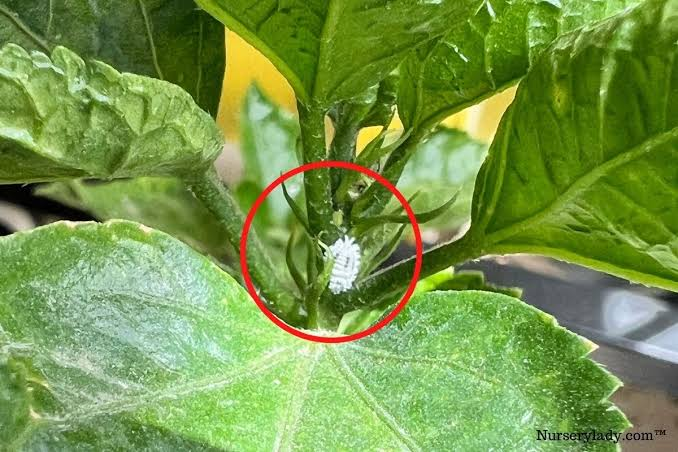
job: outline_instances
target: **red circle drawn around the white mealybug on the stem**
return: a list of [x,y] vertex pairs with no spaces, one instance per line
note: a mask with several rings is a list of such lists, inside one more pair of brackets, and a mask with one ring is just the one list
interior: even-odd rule
[[[271,194],[273,190],[275,190],[278,185],[282,184],[285,182],[287,179],[296,176],[297,174],[303,173],[305,171],[310,171],[314,169],[319,169],[319,168],[343,168],[351,171],[358,171],[362,174],[366,174],[367,176],[371,177],[372,179],[376,180],[383,186],[389,189],[391,193],[400,201],[400,204],[402,204],[403,208],[407,212],[407,216],[410,219],[410,222],[412,223],[412,230],[414,232],[414,238],[416,242],[416,260],[414,263],[414,272],[412,273],[412,280],[410,281],[410,284],[407,286],[407,291],[405,292],[405,295],[403,298],[400,300],[398,305],[391,311],[390,314],[388,314],[386,317],[384,317],[380,322],[372,325],[371,327],[367,328],[366,330],[363,330],[359,333],[351,334],[348,336],[317,336],[314,334],[309,334],[305,331],[298,330],[287,323],[283,322],[280,320],[273,312],[271,312],[270,309],[266,306],[264,301],[259,297],[259,294],[257,294],[257,290],[254,287],[254,284],[252,283],[252,277],[250,276],[249,273],[249,267],[247,266],[247,236],[250,232],[250,228],[252,227],[252,221],[254,220],[254,216],[257,213],[257,210],[261,206],[261,204],[264,202],[266,197]],[[247,291],[250,293],[250,296],[254,299],[255,303],[257,306],[259,306],[259,309],[261,309],[261,312],[263,312],[266,317],[271,319],[273,323],[278,325],[280,328],[283,330],[287,331],[290,334],[293,334],[301,339],[306,339],[308,341],[313,341],[313,342],[324,342],[324,343],[341,343],[341,342],[351,342],[355,341],[357,339],[361,339],[363,337],[369,336],[370,334],[376,333],[386,325],[388,325],[393,319],[396,318],[396,316],[400,313],[400,311],[403,310],[407,302],[410,300],[412,297],[412,294],[414,293],[414,288],[417,285],[417,280],[419,279],[419,272],[421,271],[421,262],[423,259],[423,246],[421,242],[421,232],[419,230],[419,224],[417,223],[417,218],[414,215],[414,211],[412,210],[412,207],[410,204],[407,202],[407,199],[405,199],[405,196],[403,196],[400,191],[393,186],[388,180],[386,180],[384,177],[382,177],[379,173],[372,171],[369,168],[365,168],[360,165],[356,165],[355,163],[348,163],[348,162],[340,162],[340,161],[322,161],[322,162],[313,162],[313,163],[307,163],[306,165],[302,165],[298,168],[292,169],[276,180],[274,180],[266,189],[259,195],[259,197],[254,201],[254,204],[252,205],[252,208],[250,211],[247,213],[247,218],[245,218],[245,225],[243,226],[243,231],[242,231],[242,236],[240,238],[240,266],[242,269],[242,274],[243,278],[245,279],[245,285],[247,286]]]

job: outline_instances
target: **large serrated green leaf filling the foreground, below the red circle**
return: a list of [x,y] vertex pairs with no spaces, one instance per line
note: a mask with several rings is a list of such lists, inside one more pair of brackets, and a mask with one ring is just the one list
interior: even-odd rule
[[0,273],[0,441],[19,450],[580,450],[535,429],[628,426],[591,344],[504,295],[426,294],[323,345],[133,223],[2,238]]

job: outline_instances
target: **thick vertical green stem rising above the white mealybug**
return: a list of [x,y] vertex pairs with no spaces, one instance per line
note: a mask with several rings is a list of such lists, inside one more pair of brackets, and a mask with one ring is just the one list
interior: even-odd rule
[[[317,106],[307,107],[298,103],[299,125],[304,163],[327,160],[325,142],[325,111]],[[311,232],[318,236],[323,231],[332,231],[332,189],[327,168],[304,173],[306,211]]]

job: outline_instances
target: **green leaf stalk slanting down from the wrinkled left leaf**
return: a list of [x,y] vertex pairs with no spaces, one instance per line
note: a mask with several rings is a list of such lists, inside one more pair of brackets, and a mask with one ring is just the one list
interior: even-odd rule
[[[190,190],[214,215],[226,231],[228,241],[240,249],[240,238],[245,223],[240,206],[222,183],[214,168],[202,176],[188,181]],[[300,306],[294,297],[285,290],[275,266],[271,263],[264,246],[257,237],[254,228],[249,232],[247,262],[257,288],[266,299],[270,309],[280,318],[292,325],[305,323]]]

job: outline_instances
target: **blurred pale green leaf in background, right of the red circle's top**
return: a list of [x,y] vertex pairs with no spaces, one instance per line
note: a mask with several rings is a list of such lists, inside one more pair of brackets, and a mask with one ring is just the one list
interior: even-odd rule
[[405,196],[419,193],[411,203],[414,211],[435,209],[459,193],[454,205],[426,228],[455,230],[470,219],[473,186],[486,155],[485,144],[445,127],[419,145],[398,181]]

